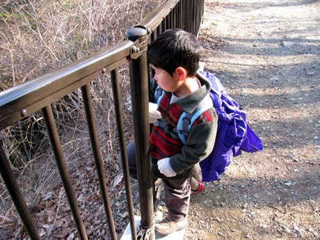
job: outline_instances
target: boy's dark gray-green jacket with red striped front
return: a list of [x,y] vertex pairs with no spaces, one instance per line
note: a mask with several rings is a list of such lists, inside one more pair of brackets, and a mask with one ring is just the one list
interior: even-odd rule
[[[199,79],[201,88],[177,102],[170,104],[172,93],[165,92],[159,103],[158,110],[162,115],[162,120],[167,123],[166,127],[152,127],[150,136],[150,154],[152,160],[152,173],[155,177],[166,178],[159,173],[157,161],[170,157],[170,165],[177,175],[174,178],[189,177],[191,168],[207,157],[216,139],[216,129],[218,117],[214,108],[202,113],[193,123],[191,131],[186,141],[182,143],[175,132],[180,115],[185,111],[192,113],[199,102],[209,93],[210,83],[207,79]],[[151,80],[151,95],[157,88],[157,82]],[[154,100],[154,99],[153,99]]]

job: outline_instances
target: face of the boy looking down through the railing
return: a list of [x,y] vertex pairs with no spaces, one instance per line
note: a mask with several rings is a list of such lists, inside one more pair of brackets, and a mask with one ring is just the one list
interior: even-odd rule
[[154,67],[154,65],[151,65],[151,67],[154,69],[154,79],[157,80],[160,88],[171,93],[175,93],[175,91],[179,89],[180,81],[179,76],[176,72],[173,72],[173,76],[171,76],[166,70],[163,70],[162,68]]

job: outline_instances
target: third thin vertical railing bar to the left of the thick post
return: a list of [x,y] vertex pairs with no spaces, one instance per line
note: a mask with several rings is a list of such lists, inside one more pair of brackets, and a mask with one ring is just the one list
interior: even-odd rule
[[61,176],[61,180],[63,182],[63,186],[65,188],[65,194],[67,195],[67,200],[72,211],[72,216],[77,225],[77,230],[79,232],[80,238],[87,240],[88,237],[86,234],[85,227],[83,225],[83,221],[81,219],[79,207],[77,205],[77,200],[71,184],[70,175],[67,171],[67,165],[65,163],[65,157],[63,155],[61,141],[58,136],[58,131],[54,122],[54,114],[52,113],[51,106],[45,106],[45,108],[42,109],[42,113],[43,117],[45,118],[51,147],[54,150],[54,156],[56,157],[56,163]]

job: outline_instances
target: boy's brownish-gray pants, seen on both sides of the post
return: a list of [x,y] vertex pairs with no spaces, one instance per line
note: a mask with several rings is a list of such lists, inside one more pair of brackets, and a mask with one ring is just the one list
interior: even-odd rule
[[[130,176],[137,179],[136,149],[134,142],[127,145],[127,156]],[[191,187],[188,179],[162,179],[168,218],[182,221],[188,216]]]

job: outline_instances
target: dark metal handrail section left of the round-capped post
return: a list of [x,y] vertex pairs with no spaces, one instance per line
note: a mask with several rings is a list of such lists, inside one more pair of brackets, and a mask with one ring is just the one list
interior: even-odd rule
[[130,40],[119,42],[32,81],[4,90],[0,93],[0,130],[101,76],[102,70],[109,72],[123,65],[128,61],[133,45]]

